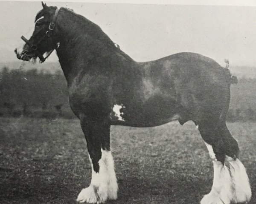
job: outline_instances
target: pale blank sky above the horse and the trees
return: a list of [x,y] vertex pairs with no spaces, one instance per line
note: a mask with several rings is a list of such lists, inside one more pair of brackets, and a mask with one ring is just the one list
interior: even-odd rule
[[[152,0],[148,1],[149,3]],[[225,65],[256,66],[256,6],[46,2],[99,25],[136,61],[196,52]],[[198,3],[196,3],[198,4]],[[0,1],[0,61],[17,61],[20,37],[33,29],[41,2]],[[58,61],[55,53],[48,61]]]

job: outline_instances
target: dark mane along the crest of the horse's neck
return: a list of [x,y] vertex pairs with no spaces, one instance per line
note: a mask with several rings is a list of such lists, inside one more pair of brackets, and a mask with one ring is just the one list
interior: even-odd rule
[[80,15],[80,14],[76,14],[73,9],[70,8],[61,8],[64,9],[66,12],[68,13],[72,13],[73,15],[76,16],[76,18],[79,19],[79,21],[81,21],[80,26],[86,28],[87,32],[90,33],[90,36],[96,38],[96,40],[99,40],[102,42],[103,45],[108,46],[108,48],[110,48],[112,51],[117,52],[119,54],[121,54],[123,57],[125,57],[128,60],[134,61],[130,56],[128,56],[128,54],[126,54],[125,52],[123,52],[119,46],[116,46],[116,44],[110,39],[110,37],[108,37],[107,34],[105,34],[102,29],[96,25],[95,23],[93,23],[92,21],[88,20],[86,17]]

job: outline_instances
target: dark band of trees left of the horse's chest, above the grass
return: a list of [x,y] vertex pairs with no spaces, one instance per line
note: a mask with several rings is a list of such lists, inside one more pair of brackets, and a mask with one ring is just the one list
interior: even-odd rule
[[69,108],[67,82],[55,74],[3,67],[0,72],[0,116],[73,117]]

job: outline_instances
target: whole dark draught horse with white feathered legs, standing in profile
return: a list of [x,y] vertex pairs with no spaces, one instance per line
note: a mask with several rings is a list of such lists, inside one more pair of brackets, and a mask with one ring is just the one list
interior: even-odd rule
[[151,62],[135,62],[97,26],[73,11],[43,9],[18,59],[44,62],[56,49],[67,79],[70,106],[81,121],[92,178],[77,201],[102,203],[117,198],[110,148],[111,125],[153,127],[178,120],[195,123],[214,166],[212,190],[201,204],[250,200],[239,147],[226,126],[230,85],[227,68],[195,53],[178,53]]

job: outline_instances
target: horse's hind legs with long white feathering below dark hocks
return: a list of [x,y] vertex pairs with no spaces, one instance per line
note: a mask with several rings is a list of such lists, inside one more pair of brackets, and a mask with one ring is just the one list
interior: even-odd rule
[[218,127],[207,123],[198,124],[213,162],[212,190],[201,204],[230,204],[247,202],[251,197],[249,179],[244,165],[239,160],[239,147],[231,136],[226,123]]

